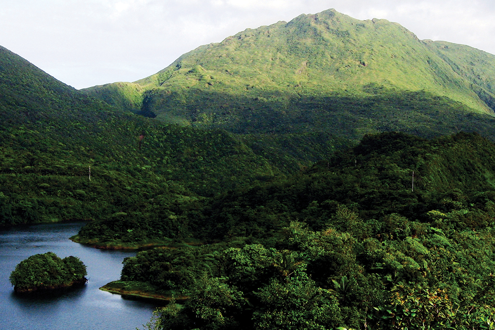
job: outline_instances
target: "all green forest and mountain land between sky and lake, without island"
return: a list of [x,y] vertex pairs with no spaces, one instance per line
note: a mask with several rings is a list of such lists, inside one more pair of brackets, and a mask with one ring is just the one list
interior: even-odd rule
[[494,67],[333,9],[81,91],[0,47],[0,226],[139,250],[146,329],[494,329]]

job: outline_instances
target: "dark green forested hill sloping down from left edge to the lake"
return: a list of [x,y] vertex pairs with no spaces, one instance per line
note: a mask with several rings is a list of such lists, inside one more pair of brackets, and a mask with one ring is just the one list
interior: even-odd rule
[[0,95],[0,226],[158,214],[280,173],[232,134],[112,108],[3,47]]

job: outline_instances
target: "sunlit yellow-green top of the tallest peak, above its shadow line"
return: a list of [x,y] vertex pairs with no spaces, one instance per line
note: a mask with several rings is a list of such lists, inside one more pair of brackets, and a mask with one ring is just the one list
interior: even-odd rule
[[[400,25],[359,21],[335,10],[248,29],[219,44],[199,47],[137,83],[166,88],[179,80],[183,87],[207,85],[229,94],[245,94],[247,85],[306,94],[356,91],[356,86],[376,83],[443,96],[467,87],[428,45]],[[472,100],[470,105],[483,108]]]

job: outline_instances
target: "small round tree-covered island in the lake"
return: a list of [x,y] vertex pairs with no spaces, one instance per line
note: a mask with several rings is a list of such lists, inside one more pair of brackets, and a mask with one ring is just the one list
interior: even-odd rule
[[34,292],[85,284],[87,274],[86,266],[79,258],[61,259],[55,253],[47,252],[21,261],[9,280],[15,292]]

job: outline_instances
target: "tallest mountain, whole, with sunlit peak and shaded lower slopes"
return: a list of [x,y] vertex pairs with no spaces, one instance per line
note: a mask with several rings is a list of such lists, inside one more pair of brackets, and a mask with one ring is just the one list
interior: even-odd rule
[[334,9],[247,29],[134,83],[82,92],[164,122],[240,134],[493,138],[495,56]]

